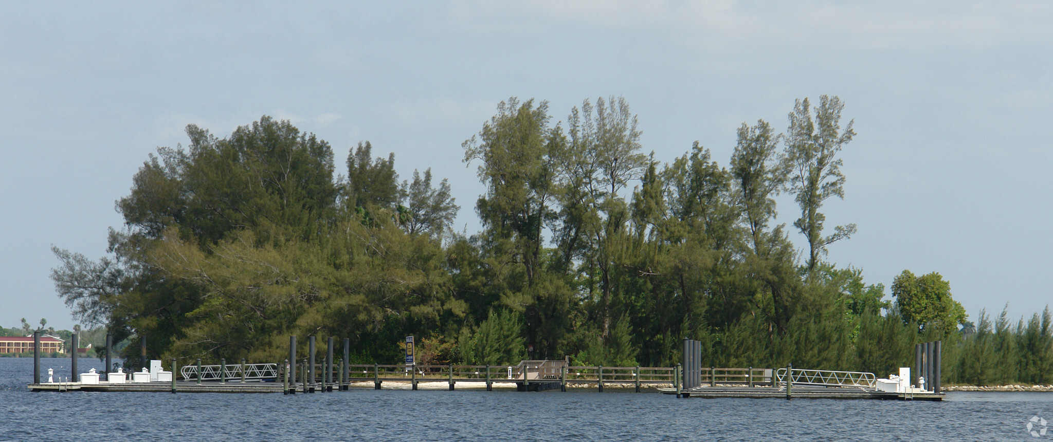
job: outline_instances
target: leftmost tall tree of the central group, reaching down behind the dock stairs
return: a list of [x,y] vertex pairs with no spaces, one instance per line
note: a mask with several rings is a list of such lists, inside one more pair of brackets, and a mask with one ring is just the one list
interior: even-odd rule
[[479,161],[486,194],[476,202],[485,227],[477,237],[485,252],[486,287],[525,317],[528,344],[537,355],[557,354],[569,329],[571,293],[559,274],[545,270],[542,232],[555,216],[558,159],[565,140],[549,125],[549,104],[511,98],[478,136],[464,141],[464,162]]

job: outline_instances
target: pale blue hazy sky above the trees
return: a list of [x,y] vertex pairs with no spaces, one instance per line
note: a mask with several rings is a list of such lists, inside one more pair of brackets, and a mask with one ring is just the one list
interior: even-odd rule
[[[286,119],[338,170],[369,140],[401,179],[449,178],[456,228],[475,233],[483,186],[461,143],[510,97],[565,121],[621,96],[644,153],[671,162],[698,141],[728,165],[743,122],[784,132],[796,99],[838,96],[857,136],[845,199],[822,212],[858,233],[827,260],[887,287],[938,272],[974,321],[1053,300],[1053,2],[160,3],[0,15],[0,325],[73,327],[52,245],[105,256],[115,201],[187,124]],[[779,222],[796,210],[783,196]]]

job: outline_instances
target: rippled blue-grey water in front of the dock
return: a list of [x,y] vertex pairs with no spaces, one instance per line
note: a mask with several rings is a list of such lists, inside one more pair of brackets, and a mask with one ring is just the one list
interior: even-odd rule
[[[43,380],[48,367],[69,373],[67,359],[41,364]],[[96,359],[79,365],[101,368]],[[951,393],[945,402],[558,390],[59,394],[26,390],[32,371],[32,358],[0,358],[0,441],[1053,441],[1053,393]],[[1028,433],[1033,416],[1048,421],[1046,436]]]

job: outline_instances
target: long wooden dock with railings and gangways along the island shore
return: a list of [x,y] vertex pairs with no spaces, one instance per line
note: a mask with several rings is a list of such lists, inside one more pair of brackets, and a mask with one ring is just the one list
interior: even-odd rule
[[[545,391],[643,388],[679,398],[885,399],[941,401],[942,393],[907,388],[888,393],[876,388],[873,374],[787,368],[571,366],[561,361],[522,361],[518,365],[404,365],[317,364],[307,370],[279,368],[279,364],[186,365],[176,382],[46,382],[33,391],[153,391],[153,393],[321,393],[349,389],[512,389]],[[289,367],[292,368],[292,367]],[[290,375],[296,374],[291,379]],[[139,375],[139,374],[135,374]],[[98,376],[95,377],[98,379]],[[123,378],[123,376],[121,376]],[[201,379],[198,379],[201,378]],[[788,393],[787,382],[790,381]],[[386,385],[385,385],[386,384]],[[902,388],[900,388],[902,389]]]

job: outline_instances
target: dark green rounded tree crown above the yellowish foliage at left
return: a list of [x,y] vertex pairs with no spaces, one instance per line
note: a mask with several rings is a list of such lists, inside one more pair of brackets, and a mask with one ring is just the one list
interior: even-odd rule
[[333,150],[289,121],[263,116],[225,139],[190,124],[186,135],[188,148],[158,148],[117,202],[126,243],[159,239],[170,226],[205,247],[244,228],[261,238],[310,237],[318,232],[310,220],[332,210]]

